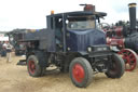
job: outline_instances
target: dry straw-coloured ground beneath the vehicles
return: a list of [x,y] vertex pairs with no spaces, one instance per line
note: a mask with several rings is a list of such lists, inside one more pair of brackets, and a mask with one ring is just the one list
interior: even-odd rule
[[26,66],[16,65],[20,58],[12,55],[12,62],[6,63],[5,57],[0,57],[0,92],[138,92],[138,69],[125,73],[121,79],[97,74],[93,82],[82,89],[72,84],[69,74],[58,70],[32,78]]

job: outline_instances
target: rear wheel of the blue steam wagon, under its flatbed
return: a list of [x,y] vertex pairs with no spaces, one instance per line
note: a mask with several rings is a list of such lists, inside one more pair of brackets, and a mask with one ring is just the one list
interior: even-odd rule
[[38,57],[34,55],[30,55],[27,60],[27,69],[30,76],[40,77],[44,74],[45,67],[41,67],[39,65]]

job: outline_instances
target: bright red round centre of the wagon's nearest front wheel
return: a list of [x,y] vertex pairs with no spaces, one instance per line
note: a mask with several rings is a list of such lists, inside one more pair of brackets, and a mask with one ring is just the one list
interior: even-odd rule
[[72,75],[75,81],[82,82],[84,79],[84,75],[85,75],[85,71],[82,65],[75,64],[72,68]]

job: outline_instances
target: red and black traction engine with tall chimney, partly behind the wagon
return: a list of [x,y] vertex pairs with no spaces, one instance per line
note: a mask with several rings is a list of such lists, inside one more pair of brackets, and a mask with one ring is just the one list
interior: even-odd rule
[[119,22],[115,27],[104,29],[107,44],[125,61],[126,71],[135,69],[138,63],[138,28],[136,23],[136,3],[129,3],[129,24]]

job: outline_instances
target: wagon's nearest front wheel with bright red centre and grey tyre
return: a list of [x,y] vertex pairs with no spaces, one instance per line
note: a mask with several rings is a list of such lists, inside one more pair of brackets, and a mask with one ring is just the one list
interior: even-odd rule
[[74,58],[69,67],[70,78],[74,86],[87,87],[93,79],[93,69],[89,62],[83,57]]

